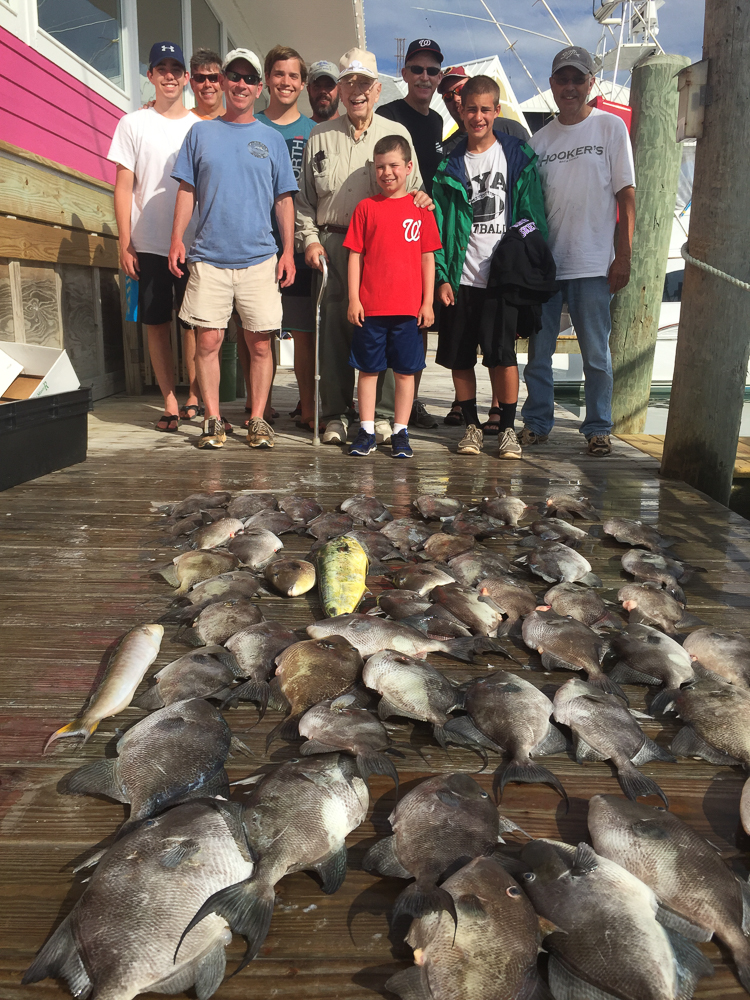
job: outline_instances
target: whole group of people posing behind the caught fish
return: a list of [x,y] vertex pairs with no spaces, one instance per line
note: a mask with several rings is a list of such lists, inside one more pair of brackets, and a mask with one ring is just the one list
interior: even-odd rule
[[[590,54],[553,61],[559,115],[533,137],[501,114],[497,83],[443,69],[432,39],[406,52],[406,96],[378,106],[375,56],[350,49],[309,67],[276,46],[261,66],[249,49],[222,60],[201,49],[189,70],[180,47],[156,43],[150,105],[118,123],[115,212],[122,269],[139,283],[139,316],[164,397],[156,429],[203,417],[198,447],[224,445],[220,349],[234,315],[253,448],[274,445],[273,340],[294,338],[301,428],[314,419],[315,302],[323,269],[320,400],[323,441],[349,454],[390,443],[412,455],[409,426],[436,427],[419,399],[427,331],[451,370],[446,424],[465,425],[459,454],[496,435],[500,458],[542,445],[554,423],[552,355],[564,302],[583,358],[592,455],[610,453],[609,305],[627,284],[635,217],[624,123],[589,104]],[[194,110],[183,103],[189,81]],[[257,115],[263,85],[268,106]],[[298,109],[304,88],[312,108]],[[442,95],[457,124],[443,142],[430,108]],[[341,110],[339,110],[341,108]],[[619,213],[619,220],[618,220]],[[325,262],[325,264],[324,264]],[[189,395],[178,407],[172,312],[183,329]],[[529,336],[528,397],[516,435],[517,336]],[[493,400],[476,403],[478,353]],[[358,371],[357,405],[354,380]]]

